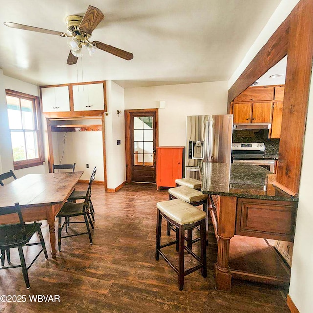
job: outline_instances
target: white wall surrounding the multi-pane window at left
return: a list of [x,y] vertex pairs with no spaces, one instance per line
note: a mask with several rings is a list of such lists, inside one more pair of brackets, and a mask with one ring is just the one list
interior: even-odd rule
[[[33,84],[22,82],[20,80],[3,75],[0,69],[0,154],[1,166],[0,172],[7,172],[13,170],[13,155],[11,147],[11,135],[9,130],[9,122],[7,115],[7,104],[5,89],[11,89],[34,96],[38,96],[38,87]],[[28,173],[45,173],[45,165],[29,167],[21,170],[14,171],[15,175],[19,178]]]

